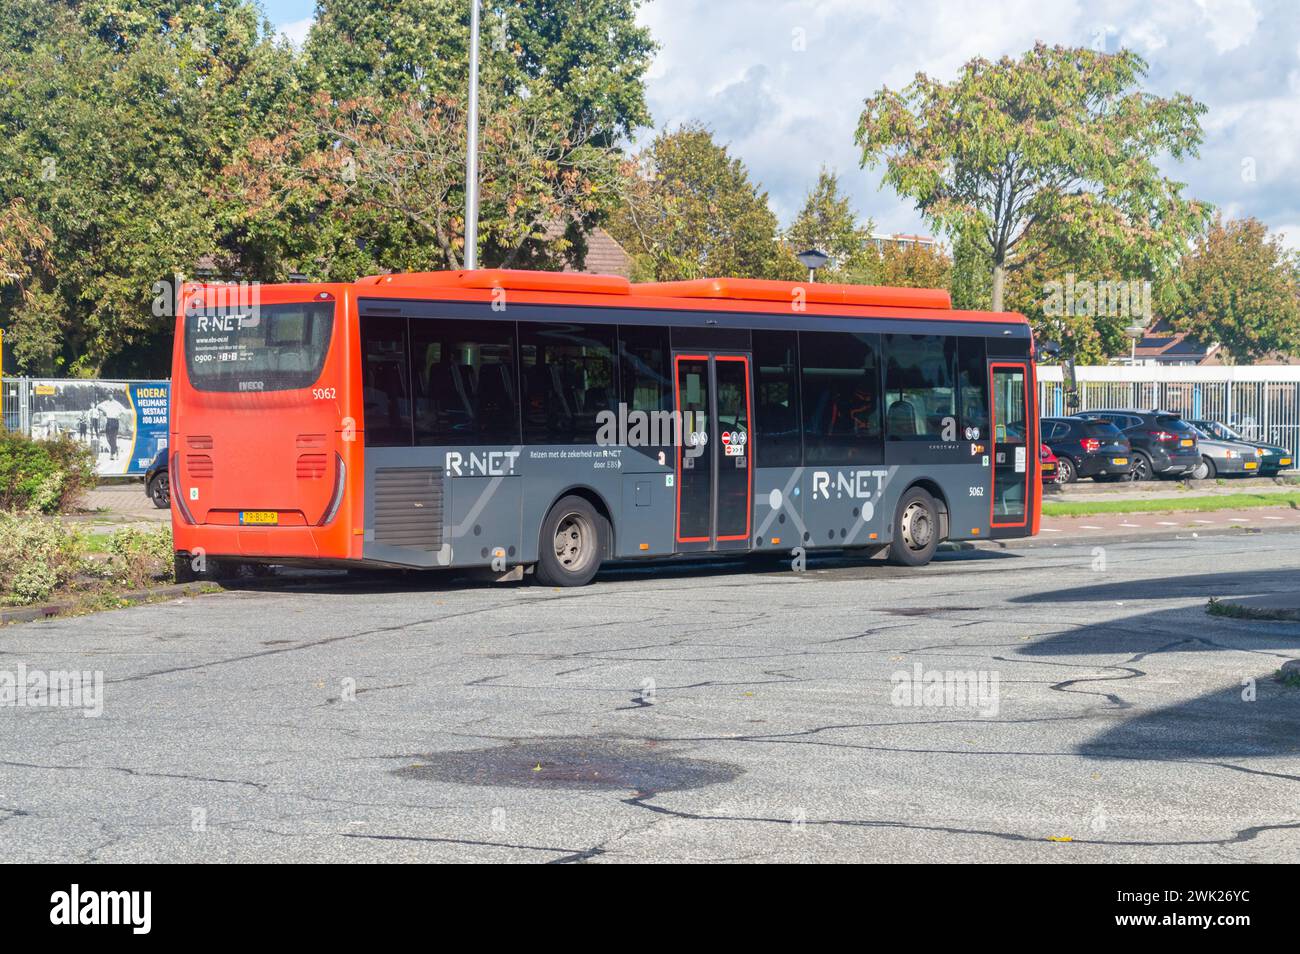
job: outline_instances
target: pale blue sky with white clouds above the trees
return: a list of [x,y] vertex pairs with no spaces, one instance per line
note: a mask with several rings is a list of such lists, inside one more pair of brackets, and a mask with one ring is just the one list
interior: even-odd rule
[[[264,6],[300,39],[315,0]],[[1205,103],[1200,159],[1166,172],[1190,195],[1227,216],[1253,214],[1300,248],[1295,0],[651,0],[640,18],[660,44],[647,77],[655,125],[710,125],[783,222],[826,162],[879,231],[924,231],[910,203],[858,166],[863,97],[918,70],[952,78],[974,56],[1043,40],[1128,47],[1150,65],[1152,92]]]

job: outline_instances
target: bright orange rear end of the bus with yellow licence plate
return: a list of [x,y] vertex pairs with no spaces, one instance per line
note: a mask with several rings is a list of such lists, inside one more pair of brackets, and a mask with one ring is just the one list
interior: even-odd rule
[[346,560],[361,468],[346,285],[187,286],[169,468],[185,554]]

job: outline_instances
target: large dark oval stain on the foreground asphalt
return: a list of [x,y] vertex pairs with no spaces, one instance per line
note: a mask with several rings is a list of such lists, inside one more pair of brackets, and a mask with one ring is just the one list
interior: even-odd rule
[[514,789],[634,792],[646,797],[734,781],[744,769],[725,762],[672,755],[621,738],[540,738],[464,751],[430,753],[400,768],[399,779]]

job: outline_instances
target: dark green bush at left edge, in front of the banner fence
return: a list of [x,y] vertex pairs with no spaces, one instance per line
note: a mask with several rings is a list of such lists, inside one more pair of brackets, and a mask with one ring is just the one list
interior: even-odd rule
[[92,486],[95,458],[86,445],[0,430],[0,509],[65,513]]

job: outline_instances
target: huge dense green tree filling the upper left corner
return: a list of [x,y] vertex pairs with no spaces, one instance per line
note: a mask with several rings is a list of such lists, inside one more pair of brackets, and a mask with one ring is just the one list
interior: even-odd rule
[[23,294],[0,300],[14,355],[29,372],[156,373],[172,318],[153,285],[221,247],[204,186],[276,109],[289,52],[246,0],[0,0],[0,200],[48,234]]

